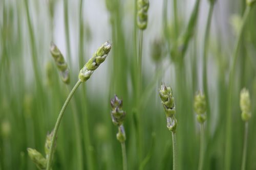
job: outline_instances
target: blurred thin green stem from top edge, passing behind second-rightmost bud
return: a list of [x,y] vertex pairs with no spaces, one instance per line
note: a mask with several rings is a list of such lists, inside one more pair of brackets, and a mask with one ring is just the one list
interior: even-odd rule
[[[208,85],[207,85],[207,56],[208,56],[208,48],[209,48],[209,32],[210,32],[210,24],[211,24],[211,18],[212,13],[214,11],[214,3],[210,3],[210,8],[208,11],[208,17],[207,17],[207,23],[206,23],[206,29],[204,34],[204,48],[203,48],[203,89],[205,94],[205,100],[206,100],[206,113],[208,114],[208,117],[210,117],[210,103],[209,103],[209,93],[208,93]],[[208,122],[207,130],[209,130],[210,121]],[[207,133],[209,134],[209,133]]]

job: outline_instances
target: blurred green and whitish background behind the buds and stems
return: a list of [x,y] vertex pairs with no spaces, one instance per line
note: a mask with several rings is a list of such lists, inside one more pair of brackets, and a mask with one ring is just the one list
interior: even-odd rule
[[[190,25],[193,27],[189,27],[196,4],[198,13]],[[136,25],[136,0],[1,0],[0,169],[36,169],[27,148],[44,153],[46,135],[77,82],[79,70],[107,40],[113,43],[109,56],[78,88],[63,116],[53,169],[121,169],[121,146],[110,115],[114,94],[123,100],[126,111],[128,169],[172,168],[172,135],[166,128],[158,95],[162,81],[172,86],[176,101],[178,167],[197,169],[200,133],[193,100],[198,90],[204,91],[204,73],[209,101],[203,169],[224,169],[229,71],[246,3],[226,0],[212,6],[204,69],[209,1],[150,0],[147,28],[143,31],[142,88],[138,91],[136,61],[141,31]],[[243,87],[248,88],[252,100],[246,167],[256,169],[255,16],[256,9],[252,8],[232,83],[228,117],[231,169],[240,169],[242,162],[244,122],[239,94]],[[182,59],[177,59],[172,50],[187,32],[186,49]],[[69,85],[60,79],[50,54],[51,41],[68,63]],[[146,163],[141,165],[145,158]]]

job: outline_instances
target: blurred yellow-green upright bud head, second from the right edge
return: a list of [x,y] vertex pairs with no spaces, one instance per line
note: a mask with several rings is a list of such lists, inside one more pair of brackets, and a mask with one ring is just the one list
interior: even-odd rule
[[197,113],[197,121],[203,124],[206,120],[206,101],[205,95],[198,92],[194,99],[194,110]]

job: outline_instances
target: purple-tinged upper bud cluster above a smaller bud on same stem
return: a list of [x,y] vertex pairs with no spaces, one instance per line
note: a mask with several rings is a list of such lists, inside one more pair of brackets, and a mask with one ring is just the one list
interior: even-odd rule
[[123,111],[122,106],[123,106],[123,101],[118,99],[117,95],[110,101],[111,105],[111,117],[112,117],[112,122],[114,125],[120,126],[123,124],[123,120],[125,118],[125,111]]

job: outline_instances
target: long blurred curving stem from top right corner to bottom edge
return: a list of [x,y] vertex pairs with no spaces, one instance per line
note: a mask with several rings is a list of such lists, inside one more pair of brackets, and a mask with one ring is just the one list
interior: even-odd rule
[[232,131],[231,131],[231,111],[232,111],[232,88],[233,88],[233,83],[234,83],[234,71],[236,68],[236,62],[238,58],[238,50],[241,42],[241,37],[242,33],[244,30],[245,22],[247,20],[247,17],[251,11],[251,6],[246,6],[243,19],[242,19],[242,24],[239,29],[238,37],[234,45],[234,50],[232,53],[232,67],[229,72],[229,85],[228,85],[228,99],[227,99],[227,117],[226,117],[226,149],[225,149],[225,169],[229,170],[230,169],[230,157],[231,157],[231,148],[232,148]]

